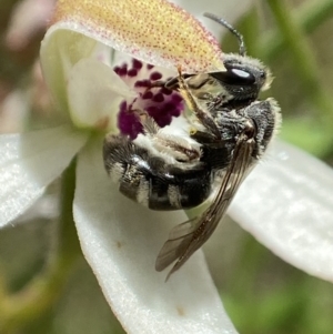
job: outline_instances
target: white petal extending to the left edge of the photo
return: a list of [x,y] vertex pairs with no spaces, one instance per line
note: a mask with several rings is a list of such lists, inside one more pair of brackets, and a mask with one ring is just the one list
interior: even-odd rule
[[68,126],[0,135],[0,227],[42,194],[84,142]]

